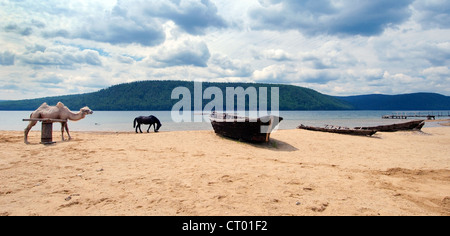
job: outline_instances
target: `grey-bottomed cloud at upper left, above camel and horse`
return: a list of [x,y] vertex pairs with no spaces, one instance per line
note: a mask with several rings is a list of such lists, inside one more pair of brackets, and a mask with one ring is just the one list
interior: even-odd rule
[[[68,8],[68,11],[77,12],[78,9]],[[51,12],[58,14],[58,11]],[[112,45],[142,46],[159,45],[165,40],[160,21],[146,17],[141,12],[121,10],[119,6],[102,12],[84,11],[80,15],[70,14],[62,19],[66,22],[65,26],[54,23],[42,30],[42,36],[47,39],[62,37]]]

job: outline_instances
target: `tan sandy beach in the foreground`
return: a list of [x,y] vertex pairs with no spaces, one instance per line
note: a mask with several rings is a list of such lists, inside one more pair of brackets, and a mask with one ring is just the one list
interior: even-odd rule
[[[37,129],[38,130],[38,129]],[[0,131],[0,215],[450,215],[450,128],[269,144],[213,131]]]

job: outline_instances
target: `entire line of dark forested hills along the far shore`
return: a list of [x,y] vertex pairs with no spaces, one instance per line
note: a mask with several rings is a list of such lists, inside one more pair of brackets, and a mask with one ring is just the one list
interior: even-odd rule
[[[138,81],[113,85],[109,88],[86,94],[0,101],[0,109],[34,110],[44,102],[47,102],[49,105],[63,102],[72,110],[76,110],[87,105],[94,111],[163,111],[171,110],[178,102],[177,99],[171,99],[171,93],[178,87],[186,88],[191,93],[195,92],[194,82],[192,81]],[[203,82],[202,88],[206,89],[207,87],[217,88],[218,91],[221,91],[222,95],[226,94],[226,89],[228,87],[251,87],[256,89],[263,87],[268,88],[269,90],[270,88],[277,87],[279,89],[278,109],[283,111],[450,110],[450,96],[437,93],[331,96],[319,93],[309,88],[287,84]],[[236,97],[242,97],[242,95],[245,97],[245,94],[240,94]],[[202,98],[203,104],[201,108],[203,109],[203,106],[210,100],[203,99],[202,94],[199,96]],[[195,97],[195,93],[193,97]],[[223,101],[226,100],[224,99]],[[267,104],[270,105],[271,102],[267,101]],[[246,102],[246,107],[251,107],[249,102]],[[191,107],[192,110],[197,108],[198,107],[196,106]]]

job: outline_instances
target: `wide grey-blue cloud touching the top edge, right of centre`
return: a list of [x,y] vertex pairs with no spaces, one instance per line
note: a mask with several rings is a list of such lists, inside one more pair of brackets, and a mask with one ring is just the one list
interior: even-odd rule
[[308,35],[379,35],[409,19],[413,0],[265,0],[250,10],[256,29],[298,30]]

